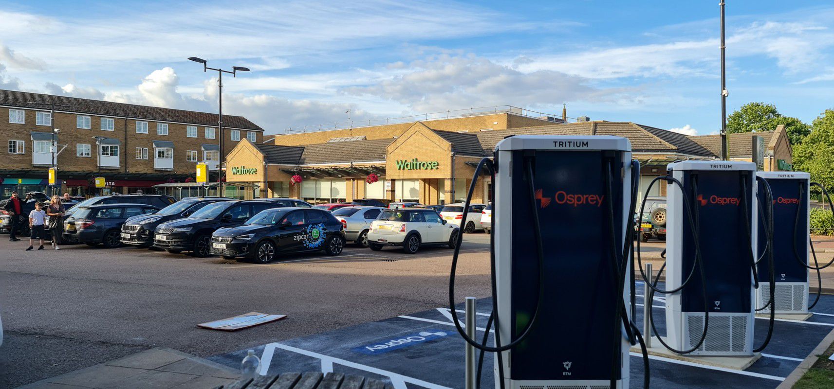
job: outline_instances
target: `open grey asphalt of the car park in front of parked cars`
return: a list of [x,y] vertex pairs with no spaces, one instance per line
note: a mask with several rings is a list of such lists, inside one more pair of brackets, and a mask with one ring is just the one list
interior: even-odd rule
[[[0,236],[0,387],[107,362],[149,347],[212,357],[442,307],[451,250],[415,255],[348,246],[269,265],[84,245],[24,252]],[[460,296],[489,295],[489,235],[465,235]],[[239,332],[198,328],[245,312],[288,315]]]

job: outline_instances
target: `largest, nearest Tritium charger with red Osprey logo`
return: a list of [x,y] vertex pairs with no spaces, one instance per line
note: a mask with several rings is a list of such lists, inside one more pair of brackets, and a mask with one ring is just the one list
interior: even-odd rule
[[[610,136],[508,137],[495,147],[495,165],[501,343],[515,341],[538,315],[528,336],[496,358],[495,387],[607,388],[617,368],[612,362],[619,368],[615,387],[629,387],[625,333],[631,330],[617,312],[627,312],[632,297],[625,278],[617,278],[631,275],[623,248],[630,243],[625,237],[636,174],[631,143]],[[540,224],[541,278],[533,212]]]

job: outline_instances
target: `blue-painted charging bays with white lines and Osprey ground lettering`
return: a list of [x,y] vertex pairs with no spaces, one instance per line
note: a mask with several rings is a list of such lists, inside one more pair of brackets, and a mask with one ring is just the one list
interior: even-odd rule
[[[638,286],[635,322],[641,327],[644,298]],[[654,302],[656,327],[666,332],[664,302]],[[483,337],[491,299],[478,301],[476,323]],[[463,305],[457,307],[463,319]],[[770,344],[762,357],[746,371],[710,367],[662,357],[651,357],[651,387],[654,388],[773,388],[777,387],[808,357],[828,332],[834,330],[834,296],[822,296],[811,310],[819,313],[808,322],[777,321]],[[831,315],[831,316],[826,316]],[[756,319],[756,346],[766,337],[768,321]],[[490,344],[491,344],[490,336]],[[415,312],[378,322],[367,322],[307,337],[256,347],[262,357],[262,372],[344,372],[389,380],[397,388],[458,388],[464,386],[465,342],[455,331],[445,308]],[[230,367],[239,367],[246,350],[211,357]],[[631,385],[643,385],[643,361],[631,354]],[[494,387],[491,355],[485,357],[482,387]]]

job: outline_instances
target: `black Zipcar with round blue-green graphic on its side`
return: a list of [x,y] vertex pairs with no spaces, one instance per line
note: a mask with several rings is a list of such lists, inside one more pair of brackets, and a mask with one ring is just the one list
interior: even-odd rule
[[344,240],[342,223],[330,212],[278,208],[260,212],[242,226],[217,230],[211,237],[211,252],[226,259],[267,263],[290,252],[324,250],[339,255]]

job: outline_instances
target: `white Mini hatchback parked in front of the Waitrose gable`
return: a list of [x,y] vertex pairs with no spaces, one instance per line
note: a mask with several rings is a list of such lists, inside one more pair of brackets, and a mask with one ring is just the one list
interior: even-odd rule
[[403,251],[414,254],[422,246],[447,245],[455,247],[460,227],[446,222],[430,209],[385,209],[379,218],[371,222],[368,247],[379,251],[384,246],[401,246]]

